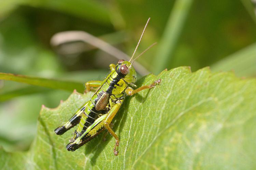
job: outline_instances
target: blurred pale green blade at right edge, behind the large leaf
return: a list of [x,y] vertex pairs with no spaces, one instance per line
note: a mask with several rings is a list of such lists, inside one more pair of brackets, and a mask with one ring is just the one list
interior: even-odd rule
[[212,71],[234,70],[237,76],[256,75],[256,43],[227,56],[211,66]]

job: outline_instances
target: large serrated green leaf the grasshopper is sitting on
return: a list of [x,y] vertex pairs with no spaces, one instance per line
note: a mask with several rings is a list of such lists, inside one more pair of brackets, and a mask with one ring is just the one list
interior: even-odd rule
[[73,93],[54,109],[42,107],[37,136],[28,152],[0,150],[0,169],[255,169],[256,80],[231,72],[189,67],[148,75],[138,86],[161,78],[160,85],[127,97],[114,119],[120,137],[102,134],[75,152],[66,144],[65,122],[93,92]]

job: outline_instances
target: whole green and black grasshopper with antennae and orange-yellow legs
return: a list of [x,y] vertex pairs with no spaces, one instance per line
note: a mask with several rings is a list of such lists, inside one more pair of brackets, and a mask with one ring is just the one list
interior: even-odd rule
[[136,87],[135,83],[137,77],[132,63],[149,48],[155,45],[154,43],[131,61],[149,21],[150,18],[147,20],[131,59],[129,61],[119,60],[116,65],[110,64],[111,72],[105,80],[89,81],[85,83],[85,92],[94,90],[98,87],[93,97],[81,106],[65,124],[55,129],[57,135],[62,135],[75,125],[79,124],[74,132],[74,137],[70,139],[70,143],[66,146],[68,151],[75,151],[106,129],[115,138],[114,155],[118,154],[116,149],[119,146],[119,138],[112,130],[111,121],[122,105],[125,96],[132,96],[141,90],[153,88],[161,82],[161,79],[159,79],[151,85],[142,86],[135,90],[131,88]]

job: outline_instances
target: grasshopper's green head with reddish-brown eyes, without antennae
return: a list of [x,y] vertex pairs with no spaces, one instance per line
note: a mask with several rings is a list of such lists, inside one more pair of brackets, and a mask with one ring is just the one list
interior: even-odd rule
[[136,82],[137,74],[130,62],[119,60],[116,64],[116,72],[127,83],[134,84]]

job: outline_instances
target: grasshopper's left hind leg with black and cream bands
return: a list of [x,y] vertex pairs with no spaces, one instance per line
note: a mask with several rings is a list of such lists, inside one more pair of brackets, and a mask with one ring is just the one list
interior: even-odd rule
[[[89,101],[88,101],[89,102]],[[57,135],[62,135],[63,133],[67,132],[69,129],[73,128],[77,123],[79,123],[81,116],[84,112],[85,107],[87,106],[88,102],[86,102],[82,107],[80,107],[76,113],[63,125],[60,125],[54,131]]]

